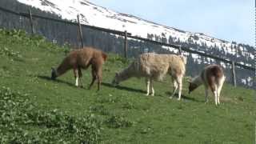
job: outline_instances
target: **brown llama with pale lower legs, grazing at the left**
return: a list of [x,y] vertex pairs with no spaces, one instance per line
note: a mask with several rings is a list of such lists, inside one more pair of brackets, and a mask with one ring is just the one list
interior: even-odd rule
[[98,90],[102,82],[102,65],[106,62],[107,55],[101,50],[96,50],[92,47],[85,47],[71,51],[70,54],[64,58],[62,63],[58,66],[57,70],[52,68],[51,78],[55,79],[67,70],[74,70],[75,86],[78,86],[78,81],[82,86],[82,69],[87,69],[91,65],[92,82],[89,89],[93,86],[94,81],[98,79]]

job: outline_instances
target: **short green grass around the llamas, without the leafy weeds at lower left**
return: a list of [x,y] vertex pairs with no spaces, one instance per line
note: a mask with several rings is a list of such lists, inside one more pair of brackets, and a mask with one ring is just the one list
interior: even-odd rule
[[[144,79],[131,78],[118,88],[110,86],[114,72],[126,66],[110,56],[103,71],[102,90],[97,92],[96,85],[93,90],[74,87],[71,71],[58,78],[58,82],[49,80],[50,67],[57,66],[65,57],[58,46],[0,34],[0,49],[4,47],[6,52],[0,53],[0,86],[30,94],[30,101],[38,109],[58,109],[77,117],[95,113],[102,121],[116,115],[133,123],[123,128],[104,125],[102,142],[254,142],[254,90],[226,84],[222,90],[222,104],[216,107],[213,97],[209,103],[204,103],[202,87],[188,95],[185,84],[182,93],[185,97],[178,102],[168,98],[172,88],[167,77],[166,82],[155,82],[155,97],[146,97]],[[90,70],[83,74],[87,87]]]

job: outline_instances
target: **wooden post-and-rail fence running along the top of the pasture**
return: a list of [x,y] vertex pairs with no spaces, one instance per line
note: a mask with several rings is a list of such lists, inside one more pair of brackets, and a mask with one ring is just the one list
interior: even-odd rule
[[[156,52],[159,54],[178,54],[183,53],[188,57],[187,70],[190,75],[196,74],[202,70],[202,67],[208,63],[218,63],[225,67],[228,75],[228,81],[236,86],[236,81],[242,85],[254,86],[253,81],[255,67],[246,66],[242,63],[227,60],[206,54],[197,50],[192,50],[188,46],[179,46],[167,42],[158,42],[149,38],[141,38],[134,36],[126,31],[110,30],[97,26],[89,26],[79,23],[79,18],[76,22],[67,20],[48,18],[41,15],[33,14],[31,10],[28,13],[15,12],[0,7],[0,26],[9,29],[22,29],[30,34],[41,34],[53,42],[59,44],[71,44],[72,46],[95,46],[100,47],[107,52],[123,54],[127,57],[137,57],[138,54],[145,52]],[[12,18],[14,21],[10,21]],[[102,46],[101,43],[106,43]],[[129,47],[129,48],[128,48]],[[192,58],[192,56],[198,58]],[[196,59],[196,60],[195,60]],[[197,61],[197,62],[195,62]],[[200,65],[197,65],[197,64]],[[225,65],[226,64],[226,65]],[[232,66],[233,64],[233,66]],[[244,75],[251,77],[244,78]]]

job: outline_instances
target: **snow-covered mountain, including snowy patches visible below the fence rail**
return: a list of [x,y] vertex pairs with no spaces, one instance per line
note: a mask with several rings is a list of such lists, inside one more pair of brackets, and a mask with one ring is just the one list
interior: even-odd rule
[[[137,35],[142,38],[148,38],[149,35],[153,35],[153,40],[158,38],[166,38],[166,42],[184,42],[187,44],[196,44],[197,46],[204,46],[202,48],[194,47],[194,50],[210,53],[210,50],[216,49],[222,54],[222,58],[233,59],[246,66],[253,66],[254,51],[252,46],[245,46],[237,44],[236,42],[226,42],[224,40],[210,37],[202,33],[193,33],[185,30],[178,30],[169,26],[162,26],[155,22],[149,22],[145,19],[138,18],[130,14],[121,14],[113,10],[108,10],[102,6],[96,6],[86,0],[68,0],[63,2],[62,0],[17,0],[29,6],[34,6],[40,10],[57,14],[63,19],[70,21],[76,21],[77,14],[80,14],[81,22],[90,26],[98,26],[111,30],[127,30],[132,35]],[[171,41],[170,41],[171,38]],[[249,48],[248,48],[249,47]],[[167,47],[162,47],[170,49]],[[188,54],[187,54],[188,55]],[[196,54],[191,54],[194,62],[210,63],[214,60],[206,58],[202,61],[202,58]],[[225,63],[221,63],[226,67]],[[249,78],[249,77],[247,77]],[[242,78],[241,82],[247,83],[251,81],[246,78]]]

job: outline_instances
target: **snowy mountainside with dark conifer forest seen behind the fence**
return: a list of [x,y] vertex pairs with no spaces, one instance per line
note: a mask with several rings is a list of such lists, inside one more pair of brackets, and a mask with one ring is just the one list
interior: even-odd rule
[[[8,10],[22,13],[27,13],[28,8],[30,8],[33,14],[50,18],[62,18],[72,22],[76,22],[77,14],[80,14],[81,22],[86,25],[99,26],[111,30],[127,30],[132,35],[138,35],[142,38],[182,45],[190,50],[212,54],[246,66],[254,66],[253,46],[237,42],[226,42],[206,34],[162,26],[161,24],[149,22],[130,14],[121,14],[102,6],[96,6],[86,0],[73,0],[69,2],[62,2],[61,0],[34,0],[33,2],[28,0],[2,0],[0,5]],[[31,31],[30,22],[27,18],[6,13],[5,11],[2,12],[0,27],[10,30],[18,28],[27,32]],[[57,42],[61,45],[79,46],[77,26],[34,18],[34,31],[52,42]],[[86,27],[82,31],[86,46],[96,46],[107,52],[123,54],[122,37]],[[138,54],[148,51],[174,54],[178,52],[178,50],[171,47],[158,46],[134,39],[129,39],[128,46],[128,56],[130,58],[137,57]],[[210,63],[218,63],[226,69],[227,81],[232,82],[231,66],[229,64],[211,58],[204,58],[198,54],[184,53],[184,55],[187,56],[189,62],[187,74],[193,76],[197,73],[198,69],[202,69],[202,67]],[[238,85],[254,87],[254,71],[237,67],[236,73]]]

